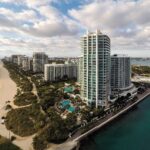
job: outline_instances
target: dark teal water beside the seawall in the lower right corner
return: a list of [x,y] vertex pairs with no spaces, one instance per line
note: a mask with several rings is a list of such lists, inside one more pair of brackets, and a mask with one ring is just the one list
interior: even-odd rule
[[97,131],[81,150],[150,150],[150,97],[136,109]]

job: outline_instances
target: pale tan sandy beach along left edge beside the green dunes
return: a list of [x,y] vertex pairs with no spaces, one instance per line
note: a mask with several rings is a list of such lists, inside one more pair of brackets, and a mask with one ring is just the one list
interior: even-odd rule
[[[7,111],[5,110],[6,102],[11,101],[13,104],[13,99],[17,91],[17,86],[15,82],[9,77],[8,71],[3,67],[3,63],[0,61],[0,135],[9,138],[9,135],[14,135],[9,132],[5,125],[1,124],[1,117],[6,116]],[[17,139],[14,144],[18,145],[22,150],[32,149],[32,138],[30,137],[19,137],[15,135]]]

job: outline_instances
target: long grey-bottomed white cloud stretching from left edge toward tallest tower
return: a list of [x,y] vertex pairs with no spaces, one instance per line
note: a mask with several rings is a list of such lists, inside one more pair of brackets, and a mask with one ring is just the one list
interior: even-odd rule
[[19,12],[0,8],[0,12],[1,26],[11,26],[33,36],[70,36],[80,31],[80,26],[76,21],[61,14],[52,6],[40,6],[37,10],[27,9]]

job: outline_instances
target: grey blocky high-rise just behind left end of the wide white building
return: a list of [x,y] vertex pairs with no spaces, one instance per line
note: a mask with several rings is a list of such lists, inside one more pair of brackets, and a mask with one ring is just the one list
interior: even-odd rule
[[33,54],[33,72],[44,72],[44,65],[48,63],[48,56],[44,52]]

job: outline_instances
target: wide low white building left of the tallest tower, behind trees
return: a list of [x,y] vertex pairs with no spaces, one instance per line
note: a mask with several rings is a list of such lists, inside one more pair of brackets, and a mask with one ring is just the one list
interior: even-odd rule
[[44,68],[45,81],[59,81],[77,78],[77,65],[74,64],[46,64]]

